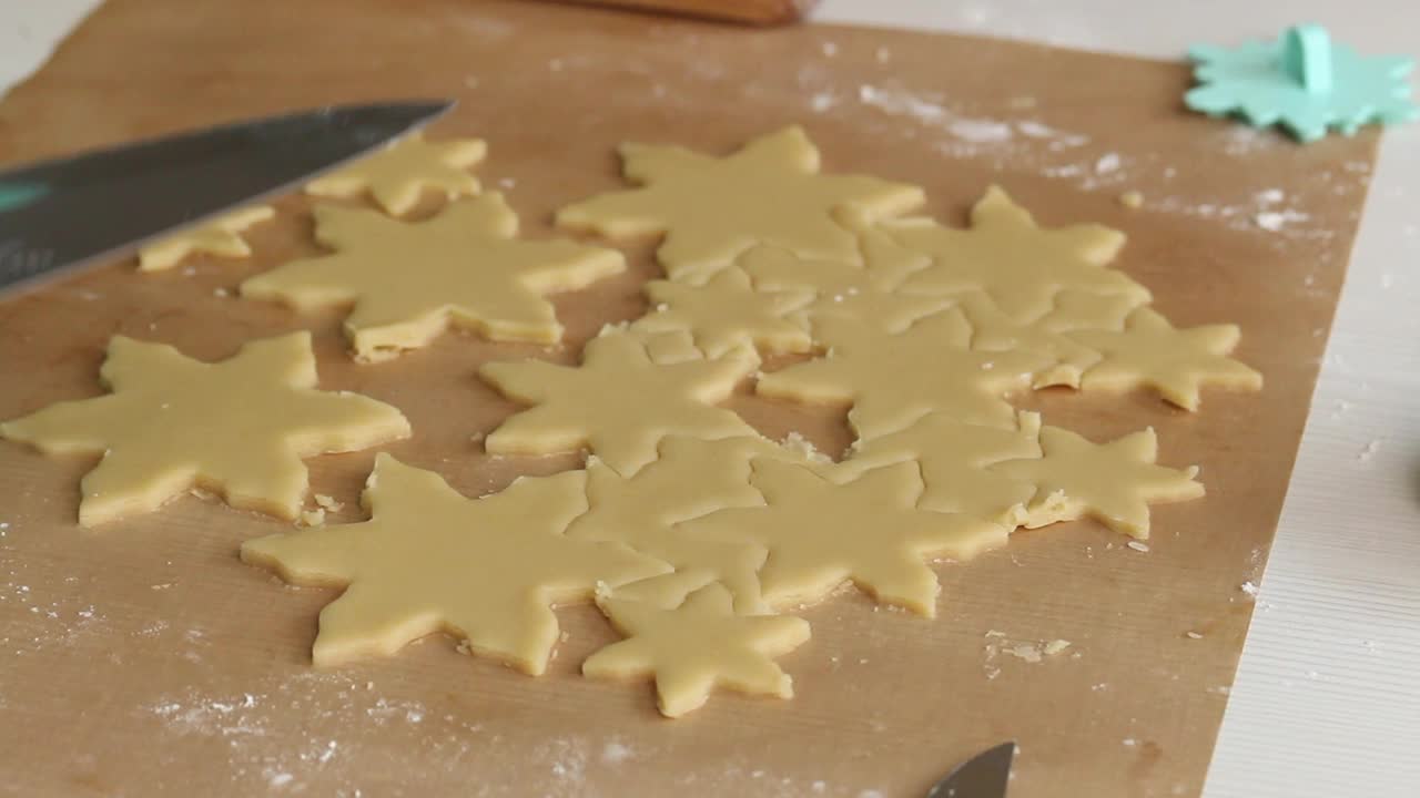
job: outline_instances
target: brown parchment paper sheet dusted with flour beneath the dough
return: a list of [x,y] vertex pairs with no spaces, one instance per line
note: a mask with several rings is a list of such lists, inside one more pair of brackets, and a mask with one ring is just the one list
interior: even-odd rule
[[[1005,41],[532,3],[106,3],[0,104],[4,160],[328,102],[456,97],[430,135],[484,136],[480,177],[507,192],[525,234],[545,236],[552,209],[619,185],[623,139],[727,152],[801,122],[828,169],[917,182],[949,223],[998,182],[1047,224],[1125,230],[1119,266],[1179,325],[1241,324],[1238,355],[1267,388],[1208,392],[1198,415],[1145,393],[1022,399],[1093,437],[1153,425],[1162,461],[1203,466],[1207,498],[1156,508],[1149,552],[1071,524],[943,565],[934,622],[841,595],[807,613],[814,639],[782,660],[792,701],[724,694],[680,721],[656,714],[646,686],[577,674],[612,639],[586,606],[559,611],[568,639],[542,679],[440,636],[312,670],[334,594],[237,559],[278,521],[185,497],[81,530],[77,480],[92,461],[0,443],[0,794],[896,798],[1014,738],[1014,798],[1196,795],[1252,611],[1240,585],[1267,559],[1375,139],[1296,146],[1184,112],[1187,85],[1183,64]],[[1142,209],[1118,202],[1126,190]],[[315,251],[305,199],[278,206],[250,233],[250,261],[155,275],[118,263],[0,298],[0,417],[99,393],[115,332],[216,359],[311,328],[322,385],[402,408],[417,437],[389,450],[467,494],[577,463],[483,456],[471,437],[513,406],[474,369],[571,361],[604,322],[640,314],[649,241],[626,247],[625,278],[559,298],[562,349],[447,335],[356,366],[339,314],[220,295]],[[734,406],[770,434],[848,442],[841,412]],[[310,461],[314,488],[346,504],[331,521],[359,518],[371,461]],[[991,653],[988,630],[1072,646],[1030,663]]]

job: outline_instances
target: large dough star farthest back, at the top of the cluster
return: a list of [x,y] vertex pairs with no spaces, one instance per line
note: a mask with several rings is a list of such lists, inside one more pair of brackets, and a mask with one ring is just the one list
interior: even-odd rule
[[819,173],[802,128],[784,128],[726,158],[680,146],[625,143],[628,180],[557,213],[561,227],[613,239],[660,234],[656,256],[672,280],[699,283],[757,244],[818,260],[861,263],[849,224],[869,224],[923,203],[916,186],[863,175]]

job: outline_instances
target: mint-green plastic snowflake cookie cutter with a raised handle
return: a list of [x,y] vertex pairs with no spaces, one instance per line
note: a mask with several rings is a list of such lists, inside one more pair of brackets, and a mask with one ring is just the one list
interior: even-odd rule
[[1183,101],[1210,116],[1235,115],[1255,128],[1281,125],[1301,142],[1328,129],[1352,135],[1362,125],[1393,125],[1420,116],[1407,75],[1414,60],[1366,57],[1333,43],[1326,28],[1294,26],[1275,41],[1237,48],[1189,48],[1198,85]]

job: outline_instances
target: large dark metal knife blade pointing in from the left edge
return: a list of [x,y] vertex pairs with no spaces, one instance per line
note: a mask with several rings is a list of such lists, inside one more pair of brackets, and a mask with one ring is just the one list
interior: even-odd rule
[[0,172],[0,291],[283,192],[452,106],[328,106]]

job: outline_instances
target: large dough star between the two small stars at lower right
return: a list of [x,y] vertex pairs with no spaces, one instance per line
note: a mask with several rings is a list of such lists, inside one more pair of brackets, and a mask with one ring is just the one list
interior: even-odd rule
[[917,463],[896,463],[843,481],[799,463],[760,459],[751,484],[763,507],[726,508],[680,524],[703,540],[757,542],[764,601],[791,608],[852,582],[878,601],[936,615],[937,575],[924,559],[970,559],[1005,544],[998,524],[917,508]]

